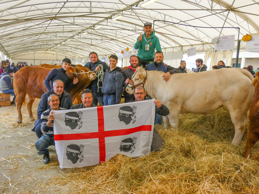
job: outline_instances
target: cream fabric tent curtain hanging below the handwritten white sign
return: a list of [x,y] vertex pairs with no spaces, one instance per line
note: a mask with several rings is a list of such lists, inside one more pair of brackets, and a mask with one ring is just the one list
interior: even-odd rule
[[206,52],[204,64],[207,65],[207,70],[212,70],[212,66],[218,65],[219,61],[224,61],[226,66],[231,66],[233,51],[217,51]]

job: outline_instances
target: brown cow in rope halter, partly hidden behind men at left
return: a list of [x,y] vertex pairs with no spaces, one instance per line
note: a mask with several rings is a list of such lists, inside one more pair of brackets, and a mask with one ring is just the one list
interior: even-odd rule
[[[22,122],[22,112],[21,107],[24,102],[24,98],[26,94],[29,95],[29,99],[26,99],[27,109],[29,118],[34,120],[32,114],[32,103],[36,98],[41,98],[47,89],[44,85],[44,80],[51,71],[51,68],[44,68],[39,66],[27,66],[21,68],[14,75],[14,92],[16,94],[16,108],[17,108],[17,122]],[[89,76],[87,73],[76,74],[82,72],[88,72],[89,68],[83,67],[81,65],[77,65],[77,67],[71,67],[72,72],[66,71],[66,74],[69,77],[68,84],[73,82],[75,76],[79,79],[79,82],[75,84],[75,86],[69,89],[67,92],[70,93],[72,101],[74,101],[75,97],[85,89],[92,80],[96,78],[94,72],[90,72]],[[90,80],[90,79],[91,80]]]

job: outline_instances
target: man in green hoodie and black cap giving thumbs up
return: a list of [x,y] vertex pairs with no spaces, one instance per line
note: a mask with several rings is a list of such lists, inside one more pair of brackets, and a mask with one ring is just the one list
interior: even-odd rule
[[145,68],[146,65],[154,62],[155,48],[157,51],[162,51],[162,49],[150,22],[144,24],[143,30],[145,33],[140,33],[134,48],[138,49],[138,65]]

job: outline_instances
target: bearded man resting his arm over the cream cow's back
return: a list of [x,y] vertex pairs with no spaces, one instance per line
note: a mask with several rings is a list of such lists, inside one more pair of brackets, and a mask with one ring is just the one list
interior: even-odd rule
[[164,80],[168,81],[171,74],[180,73],[180,70],[177,68],[171,67],[170,65],[165,65],[163,63],[163,59],[164,59],[164,56],[162,51],[157,51],[155,53],[155,62],[148,64],[145,69],[148,71],[157,70],[157,71],[164,72],[165,73],[165,75],[163,75]]

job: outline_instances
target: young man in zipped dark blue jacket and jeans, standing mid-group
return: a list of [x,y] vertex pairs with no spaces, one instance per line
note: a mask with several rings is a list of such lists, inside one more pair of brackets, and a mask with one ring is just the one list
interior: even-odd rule
[[[104,106],[119,104],[121,102],[121,95],[123,90],[123,75],[122,70],[116,67],[118,63],[118,57],[116,55],[111,55],[110,68],[104,72],[103,76],[103,102]],[[96,68],[98,70],[98,67]]]

